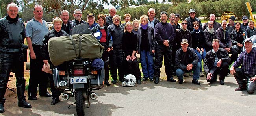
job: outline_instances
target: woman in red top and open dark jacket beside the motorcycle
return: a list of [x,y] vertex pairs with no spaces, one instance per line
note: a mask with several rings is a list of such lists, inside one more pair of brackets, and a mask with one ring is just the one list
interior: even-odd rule
[[112,37],[108,30],[108,28],[105,26],[106,24],[106,18],[103,14],[98,15],[98,25],[93,27],[91,29],[91,32],[93,36],[96,37],[96,39],[99,41],[99,43],[104,46],[104,52],[102,54],[102,60],[104,61],[104,70],[105,70],[105,81],[104,83],[107,86],[110,86],[108,79],[109,79],[109,52],[112,50]]

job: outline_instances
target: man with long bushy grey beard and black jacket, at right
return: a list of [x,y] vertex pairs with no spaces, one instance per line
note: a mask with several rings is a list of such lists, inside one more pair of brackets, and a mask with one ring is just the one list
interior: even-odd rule
[[211,41],[217,38],[217,32],[213,29],[213,21],[208,21],[208,27],[204,30],[204,38],[206,45],[204,46],[206,52],[210,51],[212,47]]

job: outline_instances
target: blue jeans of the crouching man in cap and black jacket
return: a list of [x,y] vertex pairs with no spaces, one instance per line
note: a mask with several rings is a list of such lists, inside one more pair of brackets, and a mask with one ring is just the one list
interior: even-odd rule
[[199,73],[200,73],[200,67],[202,67],[201,64],[199,62],[197,62],[197,66],[193,67],[191,70],[183,71],[182,69],[177,68],[176,75],[177,75],[179,80],[183,80],[183,74],[184,73],[188,73],[188,72],[194,71],[193,72],[193,79],[197,79],[198,80],[199,79]]

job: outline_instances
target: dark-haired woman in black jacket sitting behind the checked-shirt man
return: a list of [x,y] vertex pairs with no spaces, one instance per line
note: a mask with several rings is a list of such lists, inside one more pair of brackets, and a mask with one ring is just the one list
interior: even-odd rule
[[235,29],[232,30],[230,36],[232,48],[234,48],[238,53],[243,51],[243,40],[245,39],[243,32],[245,32],[245,30],[241,29],[241,23],[237,21],[235,23]]

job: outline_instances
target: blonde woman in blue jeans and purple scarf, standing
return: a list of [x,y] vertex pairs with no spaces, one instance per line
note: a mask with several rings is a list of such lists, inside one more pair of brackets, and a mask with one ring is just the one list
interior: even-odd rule
[[153,55],[154,50],[154,28],[148,25],[148,16],[142,15],[139,19],[141,26],[138,29],[138,50],[137,53],[141,57],[141,68],[143,73],[143,81],[148,78],[152,82],[154,75]]

